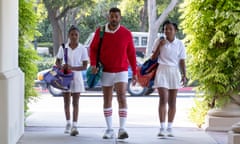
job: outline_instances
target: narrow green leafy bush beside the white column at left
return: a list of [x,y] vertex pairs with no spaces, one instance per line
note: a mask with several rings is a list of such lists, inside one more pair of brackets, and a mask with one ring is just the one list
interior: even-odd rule
[[[31,1],[19,1],[19,67],[25,74],[24,111],[28,112],[28,103],[36,99],[37,92],[33,88],[37,74],[36,61],[39,60],[32,41],[37,33],[37,16]],[[25,113],[25,114],[26,114]]]

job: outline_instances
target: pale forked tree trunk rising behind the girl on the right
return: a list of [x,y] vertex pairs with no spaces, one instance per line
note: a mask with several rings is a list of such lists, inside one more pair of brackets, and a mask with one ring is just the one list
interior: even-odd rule
[[168,14],[174,9],[177,3],[178,3],[178,0],[171,0],[167,8],[161,13],[159,17],[157,17],[156,0],[148,0],[149,37],[148,37],[148,46],[147,46],[147,56],[149,56],[152,53],[153,42],[157,37],[160,25],[164,22]]

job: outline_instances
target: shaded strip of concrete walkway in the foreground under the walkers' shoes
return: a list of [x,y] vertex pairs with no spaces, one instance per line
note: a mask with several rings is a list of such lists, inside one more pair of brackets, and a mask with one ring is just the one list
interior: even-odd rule
[[208,133],[196,128],[176,127],[175,137],[164,139],[156,136],[156,128],[128,128],[130,137],[125,140],[102,139],[104,128],[80,127],[79,135],[75,137],[63,134],[63,130],[63,127],[26,127],[17,144],[220,144]]

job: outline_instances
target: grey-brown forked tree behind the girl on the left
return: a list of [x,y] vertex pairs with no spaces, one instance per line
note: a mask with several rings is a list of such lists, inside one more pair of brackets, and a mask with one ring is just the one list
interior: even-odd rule
[[[74,8],[79,8],[84,11],[84,8],[91,6],[94,1],[61,0],[56,2],[54,0],[43,0],[43,3],[47,9],[48,18],[52,26],[53,54],[56,55],[60,44],[64,42],[64,38],[66,37],[66,25],[64,19],[66,18],[67,13]],[[75,23],[76,21],[73,21],[71,24]]]

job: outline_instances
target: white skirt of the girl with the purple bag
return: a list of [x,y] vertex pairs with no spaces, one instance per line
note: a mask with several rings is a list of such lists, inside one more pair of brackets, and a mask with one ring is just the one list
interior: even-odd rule
[[74,76],[71,81],[70,89],[63,92],[71,92],[71,93],[81,93],[85,91],[85,86],[83,82],[82,72],[81,71],[73,71]]

